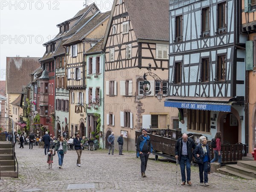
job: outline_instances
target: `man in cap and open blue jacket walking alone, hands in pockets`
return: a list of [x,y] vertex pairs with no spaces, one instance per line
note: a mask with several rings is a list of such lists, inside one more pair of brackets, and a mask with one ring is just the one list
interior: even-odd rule
[[148,130],[146,128],[142,129],[142,135],[138,137],[137,140],[137,157],[140,157],[140,169],[141,176],[146,177],[145,171],[147,168],[149,154],[152,153],[153,147],[151,145],[150,137],[147,135]]

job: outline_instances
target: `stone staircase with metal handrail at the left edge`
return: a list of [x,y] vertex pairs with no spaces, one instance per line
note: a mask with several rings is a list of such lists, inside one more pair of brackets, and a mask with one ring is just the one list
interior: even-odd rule
[[18,177],[14,158],[12,155],[12,144],[0,142],[0,177]]

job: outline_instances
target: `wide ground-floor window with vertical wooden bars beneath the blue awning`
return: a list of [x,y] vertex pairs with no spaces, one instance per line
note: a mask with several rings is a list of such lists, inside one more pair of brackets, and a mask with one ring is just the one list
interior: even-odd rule
[[210,113],[210,111],[188,109],[188,130],[210,132]]

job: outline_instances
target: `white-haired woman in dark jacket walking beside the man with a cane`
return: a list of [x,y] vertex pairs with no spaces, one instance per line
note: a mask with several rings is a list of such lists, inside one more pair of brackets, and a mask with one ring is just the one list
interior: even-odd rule
[[193,156],[199,166],[200,185],[208,186],[208,164],[211,161],[210,149],[207,145],[206,137],[201,136],[199,140],[200,143],[195,147]]

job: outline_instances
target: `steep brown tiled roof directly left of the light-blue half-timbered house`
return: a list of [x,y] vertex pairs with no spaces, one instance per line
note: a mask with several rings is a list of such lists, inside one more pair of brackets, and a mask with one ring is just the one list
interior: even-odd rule
[[125,0],[138,39],[169,41],[169,0]]

